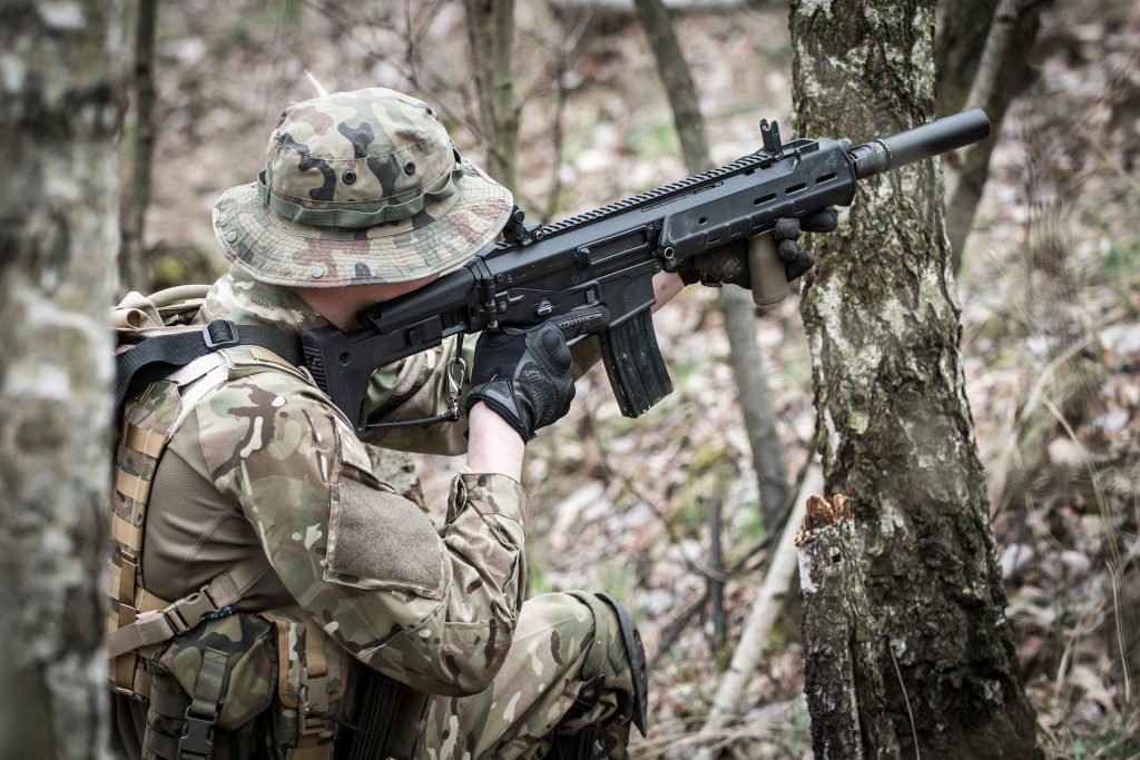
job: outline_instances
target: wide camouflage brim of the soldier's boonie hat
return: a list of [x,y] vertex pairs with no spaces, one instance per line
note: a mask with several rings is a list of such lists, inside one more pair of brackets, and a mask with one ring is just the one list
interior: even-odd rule
[[449,271],[491,243],[506,224],[511,191],[464,162],[457,191],[414,216],[364,229],[303,224],[268,210],[256,183],[230,188],[214,204],[226,258],[274,285],[334,287],[406,283]]

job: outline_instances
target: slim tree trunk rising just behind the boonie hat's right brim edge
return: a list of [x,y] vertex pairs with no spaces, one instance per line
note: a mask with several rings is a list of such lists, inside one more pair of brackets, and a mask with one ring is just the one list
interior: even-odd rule
[[514,0],[466,0],[465,8],[482,128],[490,144],[486,169],[518,193],[519,100],[511,70]]

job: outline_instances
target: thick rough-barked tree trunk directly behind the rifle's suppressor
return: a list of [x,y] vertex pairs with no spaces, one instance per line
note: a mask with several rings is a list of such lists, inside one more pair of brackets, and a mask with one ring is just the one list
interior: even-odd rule
[[[792,3],[796,133],[934,116],[934,0]],[[861,183],[801,304],[828,490],[848,495],[903,757],[1040,758],[1004,618],[934,162]],[[915,745],[917,744],[917,745]]]

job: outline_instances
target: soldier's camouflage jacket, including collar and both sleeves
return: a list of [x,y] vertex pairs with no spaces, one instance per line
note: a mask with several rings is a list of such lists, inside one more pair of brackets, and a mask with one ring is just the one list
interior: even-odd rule
[[[197,321],[218,318],[298,333],[324,324],[288,291],[237,271],[215,284]],[[237,360],[242,351],[249,348],[226,350],[238,352]],[[378,371],[376,415],[439,411],[443,367],[454,351],[446,343]],[[456,453],[465,427],[461,420],[446,430],[412,430],[384,443]],[[164,479],[164,468],[180,474]],[[207,482],[217,495],[194,521],[179,517],[162,496],[195,490],[187,479]],[[214,526],[228,524],[219,542],[259,544],[276,572],[272,581],[358,660],[422,692],[470,694],[490,681],[511,643],[524,588],[526,501],[504,475],[463,474],[437,528],[375,475],[343,415],[302,373],[231,376],[196,403],[160,464],[145,563],[156,541],[182,547],[182,556],[155,555],[180,570],[172,577],[147,569],[144,578],[166,598],[195,590],[226,566],[192,556],[192,547],[199,550]]]

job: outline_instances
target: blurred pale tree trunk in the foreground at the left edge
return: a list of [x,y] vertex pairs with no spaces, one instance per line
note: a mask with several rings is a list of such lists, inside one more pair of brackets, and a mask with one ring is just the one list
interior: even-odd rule
[[106,746],[115,2],[9,0],[0,126],[0,757]]

